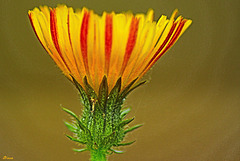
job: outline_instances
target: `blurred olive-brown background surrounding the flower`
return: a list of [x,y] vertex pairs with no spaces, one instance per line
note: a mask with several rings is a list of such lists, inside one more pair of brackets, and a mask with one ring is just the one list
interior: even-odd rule
[[239,0],[0,0],[0,160],[87,161],[64,134],[60,104],[81,112],[77,91],[38,42],[27,11],[65,3],[101,14],[175,8],[192,26],[127,99],[137,142],[110,161],[240,160]]

